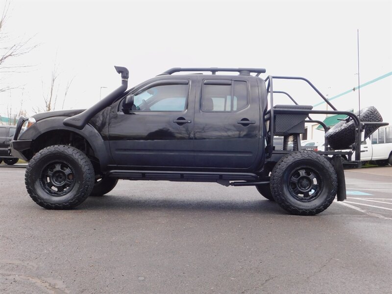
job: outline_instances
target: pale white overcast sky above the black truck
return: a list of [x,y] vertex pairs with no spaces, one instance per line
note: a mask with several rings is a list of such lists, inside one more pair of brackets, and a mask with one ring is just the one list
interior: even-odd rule
[[100,87],[102,97],[118,87],[114,65],[129,69],[129,87],[172,67],[261,67],[307,77],[331,97],[357,85],[357,28],[361,82],[391,72],[392,1],[14,0],[4,31],[40,46],[13,60],[34,65],[28,73],[1,75],[23,89],[1,94],[0,113],[22,94],[27,113],[43,107],[55,60],[57,109],[73,76],[64,108],[86,108]]

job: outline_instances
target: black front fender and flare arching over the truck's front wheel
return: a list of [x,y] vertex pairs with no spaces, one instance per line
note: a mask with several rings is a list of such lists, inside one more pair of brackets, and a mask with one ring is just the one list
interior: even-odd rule
[[104,139],[98,130],[90,123],[86,124],[81,130],[79,130],[71,126],[64,125],[63,121],[65,118],[66,117],[59,116],[38,121],[25,130],[25,132],[20,135],[18,141],[34,141],[42,134],[53,130],[71,131],[86,139],[93,149],[95,156],[99,159],[101,171],[106,171],[106,167],[113,162],[108,140],[106,138]]

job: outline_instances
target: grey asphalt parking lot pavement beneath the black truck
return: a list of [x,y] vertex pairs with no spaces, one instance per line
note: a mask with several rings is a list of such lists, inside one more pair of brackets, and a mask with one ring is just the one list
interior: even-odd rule
[[348,170],[347,200],[288,215],[254,187],[119,181],[75,210],[0,167],[1,293],[391,293],[392,167]]

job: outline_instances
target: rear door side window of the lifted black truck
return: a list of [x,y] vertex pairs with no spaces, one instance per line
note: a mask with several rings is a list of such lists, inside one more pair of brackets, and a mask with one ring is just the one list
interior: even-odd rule
[[248,90],[245,81],[205,80],[201,98],[204,112],[235,112],[248,106]]

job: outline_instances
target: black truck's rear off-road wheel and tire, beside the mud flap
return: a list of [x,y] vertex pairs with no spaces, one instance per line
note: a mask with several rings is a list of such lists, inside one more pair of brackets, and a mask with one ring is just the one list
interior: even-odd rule
[[[325,157],[312,151],[294,151],[277,162],[270,186],[273,198],[283,209],[293,215],[311,216],[331,205],[338,179]],[[302,192],[299,187],[311,190]]]

